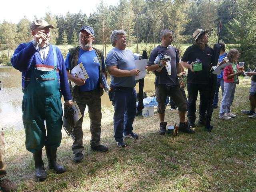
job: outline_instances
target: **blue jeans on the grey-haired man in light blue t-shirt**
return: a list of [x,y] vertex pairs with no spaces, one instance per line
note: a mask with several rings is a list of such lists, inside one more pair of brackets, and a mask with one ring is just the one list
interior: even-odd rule
[[114,106],[114,138],[123,142],[123,134],[132,132],[132,124],[136,115],[135,88],[113,87],[109,98]]

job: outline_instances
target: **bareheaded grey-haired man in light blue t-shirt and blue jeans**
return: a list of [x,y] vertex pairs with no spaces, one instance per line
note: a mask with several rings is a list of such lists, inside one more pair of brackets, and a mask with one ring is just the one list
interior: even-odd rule
[[106,57],[106,66],[111,75],[110,100],[115,109],[114,138],[118,147],[125,147],[124,137],[138,138],[132,132],[133,121],[136,115],[135,76],[140,71],[136,69],[135,59],[130,50],[126,48],[126,36],[123,30],[114,30],[110,41],[114,47]]

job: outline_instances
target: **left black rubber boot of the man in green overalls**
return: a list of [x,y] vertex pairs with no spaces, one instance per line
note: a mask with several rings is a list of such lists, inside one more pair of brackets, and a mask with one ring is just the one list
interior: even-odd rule
[[33,153],[34,161],[35,161],[35,177],[37,180],[45,180],[47,177],[47,173],[44,169],[44,162],[42,160],[42,150]]

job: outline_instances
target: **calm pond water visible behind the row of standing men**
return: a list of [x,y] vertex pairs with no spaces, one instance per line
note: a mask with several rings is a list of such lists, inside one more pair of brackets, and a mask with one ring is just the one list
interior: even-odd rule
[[[24,128],[22,123],[22,88],[21,72],[11,66],[0,66],[0,128],[19,130]],[[108,81],[110,77],[108,76]],[[144,80],[144,91],[152,92],[154,90],[154,74],[146,74]],[[138,84],[136,85],[138,92]],[[104,92],[101,97],[102,106],[111,107],[108,95]],[[87,111],[87,110],[86,110]]]

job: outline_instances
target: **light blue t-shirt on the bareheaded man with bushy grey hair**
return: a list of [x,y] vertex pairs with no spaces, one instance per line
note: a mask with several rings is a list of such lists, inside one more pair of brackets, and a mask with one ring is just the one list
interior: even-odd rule
[[[130,50],[120,50],[114,47],[106,57],[106,66],[115,66],[121,70],[133,70],[136,68],[135,59]],[[135,80],[135,76],[128,77],[116,77],[110,75],[111,80],[110,84],[116,87],[135,87],[137,81]]]

